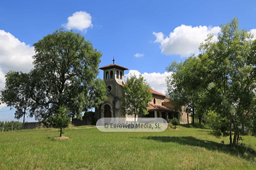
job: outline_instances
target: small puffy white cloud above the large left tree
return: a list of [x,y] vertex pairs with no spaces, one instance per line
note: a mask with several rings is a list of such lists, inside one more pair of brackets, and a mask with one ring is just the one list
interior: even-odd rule
[[92,27],[92,16],[85,11],[78,11],[68,17],[68,23],[62,25],[69,30],[75,29],[86,33],[86,29]]

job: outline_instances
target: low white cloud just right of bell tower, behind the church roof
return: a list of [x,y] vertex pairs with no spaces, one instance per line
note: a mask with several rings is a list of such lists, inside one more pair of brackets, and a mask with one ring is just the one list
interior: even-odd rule
[[[139,74],[141,74],[139,71],[131,69],[129,70],[128,74],[125,74],[124,77],[127,79],[127,77],[131,77],[132,75],[136,75],[139,77]],[[171,75],[171,72],[164,72],[163,74],[161,73],[146,73],[144,72],[142,76],[146,81],[149,83],[151,86],[151,89],[160,92],[161,94],[166,94],[167,86],[166,86],[166,77]]]

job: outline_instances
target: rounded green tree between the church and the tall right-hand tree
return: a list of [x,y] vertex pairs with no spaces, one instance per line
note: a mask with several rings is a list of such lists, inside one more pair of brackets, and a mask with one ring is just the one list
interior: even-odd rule
[[197,117],[199,123],[201,123],[204,109],[202,107],[201,109],[196,109],[201,106],[199,105],[199,94],[206,91],[203,86],[202,77],[204,72],[201,71],[201,62],[196,57],[191,56],[184,62],[172,62],[166,70],[173,72],[169,77],[166,77],[166,84],[169,100],[174,103],[176,111],[181,110],[181,106],[191,108],[192,123],[194,123],[196,113],[198,113]]

